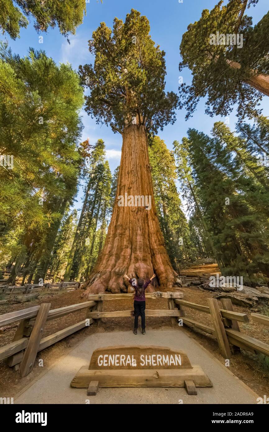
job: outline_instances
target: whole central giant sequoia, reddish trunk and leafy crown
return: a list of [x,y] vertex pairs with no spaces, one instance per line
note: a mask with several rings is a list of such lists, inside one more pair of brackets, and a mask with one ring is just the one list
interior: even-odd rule
[[[133,9],[124,23],[114,19],[113,32],[102,22],[89,41],[94,66],[79,67],[82,82],[91,90],[86,111],[123,137],[116,202],[92,272],[99,276],[91,286],[85,284],[87,292],[126,291],[124,273],[146,278],[155,272],[163,287],[174,284],[153,198],[147,133],[174,123],[177,96],[165,94],[165,53],[149,30],[148,19]],[[125,194],[129,205],[119,206],[117,198]],[[151,196],[151,209],[132,206],[135,196]]]

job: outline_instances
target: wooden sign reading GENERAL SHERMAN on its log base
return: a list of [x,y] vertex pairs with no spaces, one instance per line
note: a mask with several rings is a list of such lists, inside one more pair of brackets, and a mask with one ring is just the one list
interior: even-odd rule
[[212,387],[203,369],[198,365],[192,366],[186,353],[166,346],[95,349],[89,367],[79,369],[71,387],[88,388],[92,381],[98,381],[100,388],[185,387],[189,394],[196,394],[195,387]]

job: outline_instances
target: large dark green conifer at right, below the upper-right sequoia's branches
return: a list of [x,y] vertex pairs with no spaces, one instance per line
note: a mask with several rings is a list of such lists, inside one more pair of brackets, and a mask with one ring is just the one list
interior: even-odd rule
[[[257,273],[269,275],[268,229],[242,194],[233,156],[220,140],[188,130],[190,160],[199,199],[224,265],[222,273],[255,284]],[[266,268],[267,266],[267,268]]]

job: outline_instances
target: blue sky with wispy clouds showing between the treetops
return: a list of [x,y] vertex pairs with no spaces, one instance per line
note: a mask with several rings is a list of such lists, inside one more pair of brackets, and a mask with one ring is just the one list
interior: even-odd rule
[[[179,46],[182,35],[187,30],[187,26],[197,21],[203,9],[211,10],[218,0],[103,0],[103,3],[96,0],[89,0],[86,3],[86,16],[82,25],[76,31],[76,35],[70,35],[70,44],[64,38],[57,28],[49,29],[47,33],[41,33],[43,43],[39,43],[39,35],[33,27],[33,19],[27,29],[21,29],[20,38],[15,41],[6,37],[12,50],[21,57],[27,54],[28,48],[33,47],[36,50],[43,49],[46,54],[59,63],[70,62],[74,69],[77,70],[80,64],[92,63],[94,57],[89,53],[88,40],[92,32],[98,27],[100,22],[104,21],[109,27],[113,26],[113,19],[125,20],[125,16],[132,8],[139,10],[142,15],[149,19],[153,41],[160,45],[165,51],[166,56],[166,89],[178,92],[178,77],[183,76],[184,82],[191,83],[191,73],[184,69],[179,73],[178,64],[181,60]],[[227,1],[224,2],[225,4]],[[255,7],[247,10],[247,14],[253,17],[253,23],[256,24],[268,12],[268,0],[260,0]],[[4,37],[1,37],[3,39]],[[264,98],[261,104],[263,114],[269,115],[268,98]],[[213,118],[204,113],[204,100],[199,102],[193,117],[185,121],[185,110],[177,111],[177,121],[174,125],[168,125],[158,135],[163,139],[169,149],[172,149],[174,140],[181,141],[186,135],[189,127],[210,133],[215,121],[222,120],[220,116]],[[82,111],[84,130],[82,139],[89,137],[91,143],[95,143],[98,138],[102,138],[106,145],[107,159],[113,172],[120,163],[121,136],[114,134],[111,129],[105,125],[95,124],[84,111]],[[233,130],[237,118],[235,111],[230,115],[230,127]],[[76,207],[81,207],[82,188],[80,188]]]

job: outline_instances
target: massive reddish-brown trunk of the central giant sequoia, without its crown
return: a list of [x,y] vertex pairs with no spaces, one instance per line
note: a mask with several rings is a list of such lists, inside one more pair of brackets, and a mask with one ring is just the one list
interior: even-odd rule
[[[119,196],[150,196],[151,208],[119,206]],[[130,204],[131,199],[128,199]],[[134,202],[135,204],[135,202]],[[99,273],[90,286],[92,277]],[[130,277],[144,279],[156,273],[161,288],[171,288],[177,274],[174,272],[161,234],[149,165],[148,142],[144,126],[130,124],[123,130],[123,145],[117,194],[104,247],[97,263],[84,284],[87,292],[126,292]],[[151,287],[151,285],[149,286]],[[152,287],[151,287],[152,289]]]

